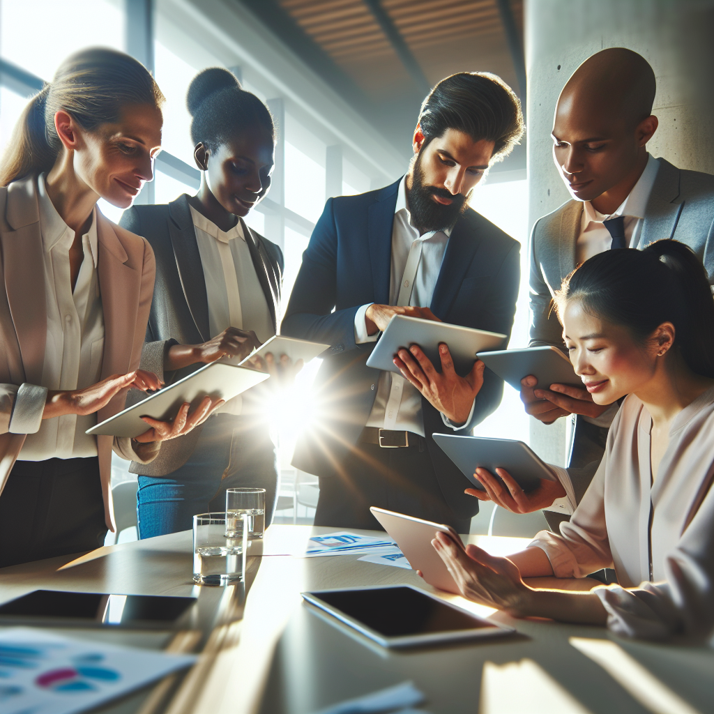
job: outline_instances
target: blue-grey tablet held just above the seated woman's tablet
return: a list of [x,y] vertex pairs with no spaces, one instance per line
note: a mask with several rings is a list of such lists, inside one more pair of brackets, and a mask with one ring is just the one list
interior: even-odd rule
[[[441,450],[458,466],[459,471],[473,486],[484,491],[480,481],[473,477],[478,466],[488,469],[498,478],[496,468],[505,468],[523,491],[533,491],[540,479],[557,481],[550,468],[540,461],[523,441],[513,439],[487,439],[479,436],[433,434]],[[406,555],[406,553],[405,553]]]

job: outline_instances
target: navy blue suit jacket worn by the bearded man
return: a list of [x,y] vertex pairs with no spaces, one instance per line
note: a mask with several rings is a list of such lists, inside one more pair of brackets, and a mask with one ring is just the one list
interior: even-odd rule
[[[298,442],[293,466],[335,476],[356,444],[376,397],[379,371],[366,366],[375,343],[355,343],[354,318],[366,303],[389,303],[392,225],[399,181],[360,196],[330,198],[315,226],[288,303],[284,335],[328,343],[316,378],[316,413]],[[520,244],[468,208],[448,240],[431,301],[444,322],[508,336],[516,311]],[[503,381],[488,369],[469,433],[501,402]],[[471,484],[431,434],[455,433],[422,399],[424,430],[444,498],[457,516],[478,513]]]

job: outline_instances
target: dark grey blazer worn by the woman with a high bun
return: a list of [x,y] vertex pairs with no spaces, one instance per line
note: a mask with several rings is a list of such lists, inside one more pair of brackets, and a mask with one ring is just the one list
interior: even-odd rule
[[[198,252],[196,229],[193,227],[188,196],[158,206],[134,206],[124,211],[120,225],[144,236],[154,248],[156,283],[151,302],[146,343],[141,354],[141,368],[159,375],[167,384],[201,367],[191,365],[176,372],[164,372],[164,359],[174,344],[200,344],[215,335],[208,329],[208,298],[203,279],[201,255]],[[266,296],[273,328],[278,326],[280,296],[283,283],[283,253],[275,243],[246,226],[248,248],[258,282]],[[131,227],[130,227],[131,226]],[[132,400],[133,398],[133,400]],[[129,393],[127,406],[139,401],[141,395]],[[161,445],[159,456],[151,463],[133,461],[129,471],[143,476],[166,476],[183,466],[193,453],[201,434],[201,426]]]

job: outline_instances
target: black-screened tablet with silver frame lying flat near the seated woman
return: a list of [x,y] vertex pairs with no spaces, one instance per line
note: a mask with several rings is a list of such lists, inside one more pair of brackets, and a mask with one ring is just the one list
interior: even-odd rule
[[383,647],[436,645],[502,637],[516,631],[473,615],[413,585],[336,588],[301,595],[306,602]]

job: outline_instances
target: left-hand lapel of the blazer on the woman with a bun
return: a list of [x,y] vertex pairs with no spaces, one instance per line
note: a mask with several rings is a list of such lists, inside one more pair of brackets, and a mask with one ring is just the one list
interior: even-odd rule
[[169,203],[169,236],[174,248],[178,277],[181,278],[183,295],[191,311],[193,322],[201,338],[209,340],[208,334],[208,297],[206,296],[206,281],[203,278],[203,263],[198,252],[196,228],[191,220],[191,209],[188,207],[188,196],[176,198]]

